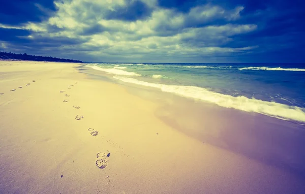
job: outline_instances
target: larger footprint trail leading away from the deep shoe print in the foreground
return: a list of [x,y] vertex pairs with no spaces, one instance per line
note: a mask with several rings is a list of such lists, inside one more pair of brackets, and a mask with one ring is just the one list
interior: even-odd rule
[[[77,85],[78,82],[75,83],[75,85]],[[68,89],[71,89],[71,87],[73,87],[74,85],[69,85]],[[62,90],[60,91],[60,93],[65,93],[66,91],[65,90]],[[70,97],[69,94],[65,94],[66,97]],[[68,103],[69,100],[64,100],[65,103]],[[79,106],[73,106],[75,109],[80,109]],[[82,115],[76,115],[75,119],[76,120],[81,120],[83,119],[84,117]],[[95,130],[94,128],[88,128],[88,132],[90,133],[90,135],[92,136],[97,136],[99,135],[99,132],[97,130]],[[99,169],[104,169],[107,167],[108,165],[108,157],[110,156],[110,152],[107,152],[107,153],[102,153],[102,152],[99,152],[97,153],[97,161],[96,161],[96,166],[99,168]]]

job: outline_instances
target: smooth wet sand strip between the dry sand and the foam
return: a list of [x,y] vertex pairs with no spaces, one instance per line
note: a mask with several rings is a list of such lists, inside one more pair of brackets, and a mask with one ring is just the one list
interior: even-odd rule
[[[224,108],[155,88],[119,82],[111,79],[111,74],[88,67],[85,69],[90,76],[122,84],[129,93],[159,104],[155,115],[191,138],[256,159],[268,166],[284,168],[305,178],[305,151],[302,149],[305,127],[298,122]],[[294,158],[296,155],[298,157]]]

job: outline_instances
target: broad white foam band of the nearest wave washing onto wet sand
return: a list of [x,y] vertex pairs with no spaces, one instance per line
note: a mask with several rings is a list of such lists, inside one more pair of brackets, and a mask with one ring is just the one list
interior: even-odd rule
[[177,95],[184,96],[187,98],[214,103],[221,107],[234,108],[246,112],[256,112],[285,120],[289,119],[289,120],[305,122],[305,109],[296,106],[288,106],[276,102],[267,102],[257,99],[249,99],[246,96],[234,97],[231,95],[208,91],[205,88],[196,87],[196,86],[180,86],[180,85],[149,83],[134,78],[118,77],[118,76],[114,76],[114,78],[128,83],[159,88],[164,92],[175,93]]

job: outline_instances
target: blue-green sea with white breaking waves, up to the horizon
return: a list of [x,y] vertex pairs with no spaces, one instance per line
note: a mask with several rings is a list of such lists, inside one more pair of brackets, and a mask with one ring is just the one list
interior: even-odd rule
[[115,80],[305,124],[305,64],[86,63]]

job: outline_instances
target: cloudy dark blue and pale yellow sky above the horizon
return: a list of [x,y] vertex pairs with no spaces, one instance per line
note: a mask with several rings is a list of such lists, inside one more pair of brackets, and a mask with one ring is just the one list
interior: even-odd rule
[[0,51],[96,62],[305,62],[302,0],[0,3]]

